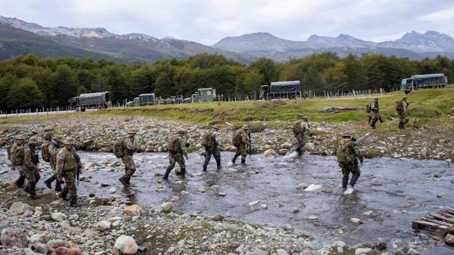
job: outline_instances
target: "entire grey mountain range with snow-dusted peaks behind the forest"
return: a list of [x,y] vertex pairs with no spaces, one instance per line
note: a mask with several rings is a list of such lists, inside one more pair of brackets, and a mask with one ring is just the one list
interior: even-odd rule
[[39,57],[107,58],[118,62],[155,62],[160,59],[188,58],[200,53],[217,53],[242,63],[267,57],[275,62],[302,58],[313,53],[381,53],[414,60],[437,55],[454,58],[454,38],[436,31],[411,31],[394,41],[365,41],[348,34],[337,37],[311,35],[306,41],[292,41],[270,33],[226,37],[207,46],[146,34],[115,34],[105,28],[43,27],[16,18],[0,16],[0,60],[19,54]]

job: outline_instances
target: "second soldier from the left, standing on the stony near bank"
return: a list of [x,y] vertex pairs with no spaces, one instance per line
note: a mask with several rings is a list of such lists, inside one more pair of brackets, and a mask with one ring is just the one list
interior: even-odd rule
[[41,175],[39,174],[41,169],[38,167],[38,154],[35,152],[35,148],[38,144],[39,141],[35,136],[30,137],[27,146],[24,148],[24,162],[22,164],[28,181],[28,186],[25,187],[24,191],[28,192],[32,199],[37,199],[42,196],[35,191],[36,183],[38,183],[41,178]]

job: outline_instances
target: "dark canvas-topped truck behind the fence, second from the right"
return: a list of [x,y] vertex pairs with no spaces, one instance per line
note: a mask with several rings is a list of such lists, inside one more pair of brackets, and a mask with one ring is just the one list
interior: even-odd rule
[[296,99],[301,97],[300,81],[271,82],[260,87],[260,98],[270,100],[275,98]]

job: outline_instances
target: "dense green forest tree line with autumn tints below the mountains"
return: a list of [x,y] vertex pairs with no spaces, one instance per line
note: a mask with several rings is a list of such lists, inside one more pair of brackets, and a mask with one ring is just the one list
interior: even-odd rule
[[454,74],[454,60],[412,61],[381,54],[314,54],[285,63],[260,58],[244,65],[217,54],[153,64],[118,64],[111,60],[38,58],[33,54],[0,62],[0,110],[66,107],[81,93],[109,91],[112,103],[142,93],[190,97],[198,88],[212,87],[226,96],[257,95],[272,81],[299,80],[303,90],[316,93],[350,89],[389,91],[416,74]]

